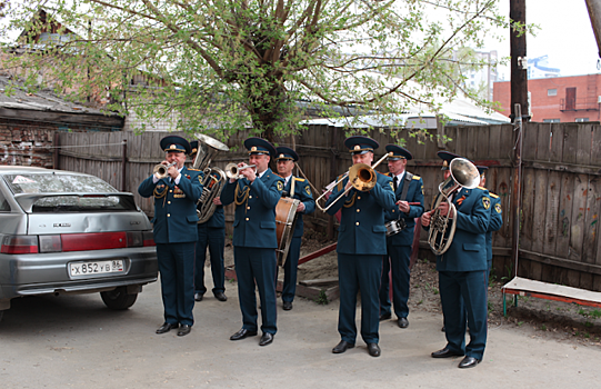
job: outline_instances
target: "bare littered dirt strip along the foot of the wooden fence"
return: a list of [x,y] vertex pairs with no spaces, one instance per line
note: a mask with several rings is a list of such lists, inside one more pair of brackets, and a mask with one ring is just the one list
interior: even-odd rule
[[[333,243],[313,231],[307,232],[302,238],[301,258]],[[233,265],[231,242],[227,243],[226,263]],[[338,277],[335,251],[299,266],[299,281],[335,277]],[[279,272],[279,279],[283,279],[283,271]],[[494,272],[491,275],[489,283],[490,327],[529,327],[544,339],[601,347],[600,309],[528,297],[518,297],[518,307],[514,307],[513,296],[508,296],[508,317],[503,317],[501,287],[508,281],[507,277],[498,277]],[[411,310],[442,315],[434,263],[418,260],[413,267],[409,307]]]

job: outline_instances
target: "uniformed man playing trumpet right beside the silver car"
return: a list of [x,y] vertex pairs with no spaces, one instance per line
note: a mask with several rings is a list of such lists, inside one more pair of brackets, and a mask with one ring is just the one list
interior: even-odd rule
[[188,140],[169,136],[161,139],[166,152],[167,177],[154,173],[147,178],[138,192],[142,197],[154,197],[152,219],[164,323],[157,333],[178,329],[178,336],[190,333],[194,318],[194,246],[197,235],[197,199],[202,193],[198,171],[183,166],[190,152]]

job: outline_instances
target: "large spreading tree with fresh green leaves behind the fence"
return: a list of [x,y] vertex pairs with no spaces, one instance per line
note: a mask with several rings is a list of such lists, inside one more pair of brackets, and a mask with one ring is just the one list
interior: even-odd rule
[[[30,83],[43,72],[42,87],[80,101],[108,93],[123,114],[178,112],[180,129],[252,126],[273,139],[307,109],[387,114],[475,97],[462,87],[463,69],[478,64],[463,48],[505,24],[497,2],[43,0],[7,16],[27,31],[12,58]],[[53,20],[56,34],[40,41]]]

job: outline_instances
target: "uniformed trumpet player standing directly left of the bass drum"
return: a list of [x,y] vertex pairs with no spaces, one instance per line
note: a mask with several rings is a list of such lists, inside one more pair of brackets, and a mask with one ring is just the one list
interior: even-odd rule
[[230,179],[221,201],[224,206],[236,203],[233,221],[233,259],[238,278],[238,297],[242,311],[242,328],[230,337],[241,340],[257,336],[257,298],[261,299],[261,330],[259,346],[273,342],[276,326],[276,206],[282,196],[283,180],[269,169],[276,148],[264,139],[249,138],[244,141],[249,150],[249,162],[238,164],[240,179]]

